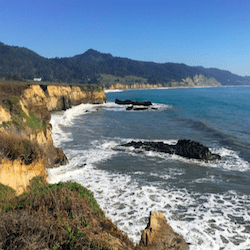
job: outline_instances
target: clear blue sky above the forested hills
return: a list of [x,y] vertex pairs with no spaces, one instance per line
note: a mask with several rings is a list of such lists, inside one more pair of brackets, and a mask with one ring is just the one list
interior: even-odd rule
[[250,0],[0,0],[0,42],[250,75]]

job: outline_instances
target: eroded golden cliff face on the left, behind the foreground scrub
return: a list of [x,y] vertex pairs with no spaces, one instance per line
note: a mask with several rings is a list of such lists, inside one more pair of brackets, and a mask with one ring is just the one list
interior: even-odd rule
[[67,162],[53,145],[49,111],[103,103],[106,96],[100,89],[66,85],[27,85],[20,95],[14,92],[0,103],[0,182],[20,194],[34,176],[47,179],[46,168]]

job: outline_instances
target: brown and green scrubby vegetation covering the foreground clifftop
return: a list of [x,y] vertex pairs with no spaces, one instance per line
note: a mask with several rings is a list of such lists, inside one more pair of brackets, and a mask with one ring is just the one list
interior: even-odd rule
[[124,249],[133,243],[105,218],[93,194],[80,184],[46,184],[33,178],[28,190],[14,196],[0,185],[0,249]]

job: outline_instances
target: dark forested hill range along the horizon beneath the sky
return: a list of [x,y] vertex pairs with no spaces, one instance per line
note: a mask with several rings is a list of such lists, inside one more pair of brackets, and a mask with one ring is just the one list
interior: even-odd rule
[[110,82],[144,82],[172,86],[183,79],[202,74],[222,85],[249,84],[229,71],[190,67],[177,63],[154,63],[113,57],[93,49],[69,58],[44,58],[35,52],[0,43],[0,75],[23,79],[41,77],[43,81],[109,84]]

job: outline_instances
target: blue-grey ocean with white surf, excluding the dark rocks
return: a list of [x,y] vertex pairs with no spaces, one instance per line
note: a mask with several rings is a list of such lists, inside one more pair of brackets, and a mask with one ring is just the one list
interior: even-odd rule
[[[250,87],[106,91],[108,103],[52,115],[54,144],[69,163],[49,182],[89,188],[118,227],[139,242],[162,212],[190,249],[250,249]],[[115,99],[151,101],[127,111]],[[122,147],[130,141],[202,143],[219,161]]]

